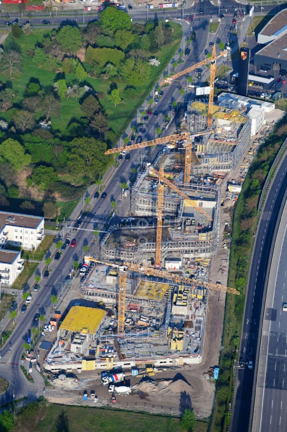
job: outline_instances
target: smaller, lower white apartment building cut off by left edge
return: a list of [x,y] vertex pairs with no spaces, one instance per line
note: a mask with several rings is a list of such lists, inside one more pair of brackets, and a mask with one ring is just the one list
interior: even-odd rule
[[0,250],[1,285],[12,286],[24,268],[21,252]]

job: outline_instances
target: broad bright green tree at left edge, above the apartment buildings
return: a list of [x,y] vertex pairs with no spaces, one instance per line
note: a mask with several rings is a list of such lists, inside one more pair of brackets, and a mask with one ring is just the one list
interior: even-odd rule
[[[31,156],[25,153],[24,147],[18,141],[8,138],[0,144],[0,162],[9,162],[12,168],[19,171],[31,162]],[[6,166],[6,170],[9,170],[9,166]],[[1,172],[0,177],[3,178]]]

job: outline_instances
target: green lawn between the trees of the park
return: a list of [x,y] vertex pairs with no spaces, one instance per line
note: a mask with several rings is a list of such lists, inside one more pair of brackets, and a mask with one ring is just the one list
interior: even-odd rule
[[[134,99],[125,98],[122,100],[121,104],[115,107],[114,104],[112,104],[112,102],[110,102],[107,98],[107,93],[109,92],[111,85],[110,80],[103,81],[101,77],[93,78],[89,76],[85,79],[85,83],[88,86],[92,87],[96,92],[104,94],[104,97],[100,99],[100,103],[108,116],[109,126],[115,131],[117,136],[120,136],[124,132],[131,119],[136,114],[137,107],[139,107],[143,103],[144,99],[148,96],[149,92],[157,82],[157,77],[159,77],[160,74],[165,70],[168,62],[172,59],[179,47],[182,34],[181,25],[171,23],[171,26],[174,37],[173,42],[163,46],[153,54],[153,57],[159,59],[160,65],[159,67],[152,67],[150,76],[147,77],[144,85],[138,87],[136,104]],[[17,43],[19,43],[21,46],[22,51],[23,71],[22,74],[16,76],[15,79],[12,79],[13,89],[18,92],[18,98],[16,102],[20,102],[23,98],[23,92],[30,78],[39,79],[41,86],[47,89],[51,89],[53,87],[53,83],[56,81],[56,73],[37,67],[33,59],[26,54],[28,50],[34,49],[37,44],[41,44],[45,33],[47,33],[47,29],[35,29],[31,35],[22,36],[17,40]],[[10,38],[12,38],[12,35],[9,35],[6,41],[9,41]],[[150,55],[150,53],[147,54]],[[87,69],[87,71],[90,70],[90,66],[85,63],[84,67]],[[0,74],[0,79],[1,81],[6,81],[7,76]],[[69,73],[66,74],[66,81],[68,85],[71,85],[75,81],[75,75]],[[112,82],[117,84],[120,96],[123,98],[123,92],[127,84],[123,81],[123,79],[120,80],[118,77],[113,78]],[[40,113],[38,115],[40,117]],[[54,129],[59,129],[60,131],[65,132],[71,118],[80,120],[82,115],[83,114],[81,112],[78,100],[73,98],[65,99],[61,102],[60,115],[57,117],[52,117],[51,123]],[[3,113],[3,117],[5,117],[5,113]]]

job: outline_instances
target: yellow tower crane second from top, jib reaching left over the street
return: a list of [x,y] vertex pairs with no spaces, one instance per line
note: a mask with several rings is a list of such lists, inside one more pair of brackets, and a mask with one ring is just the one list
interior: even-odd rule
[[185,146],[185,162],[184,162],[184,183],[188,184],[190,181],[190,171],[191,171],[191,153],[192,153],[192,142],[193,137],[199,137],[200,135],[205,135],[206,133],[212,133],[212,130],[203,130],[197,133],[182,132],[176,133],[175,135],[169,135],[168,137],[156,138],[156,140],[143,141],[143,143],[131,144],[131,146],[116,147],[114,149],[106,150],[105,154],[110,155],[112,153],[122,152],[123,150],[134,150],[143,149],[145,147],[156,146],[158,144],[165,144],[169,141],[176,140],[187,140]]

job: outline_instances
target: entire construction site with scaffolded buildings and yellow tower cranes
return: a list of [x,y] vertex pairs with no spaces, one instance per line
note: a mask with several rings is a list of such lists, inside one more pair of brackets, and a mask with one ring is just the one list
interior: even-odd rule
[[[220,306],[218,319],[223,321],[225,293],[239,292],[221,282],[223,258],[218,266],[221,273],[213,270],[216,276],[211,282],[212,262],[219,245],[222,247],[221,212],[226,204],[222,195],[228,175],[247,154],[251,134],[251,119],[244,107],[229,109],[213,103],[215,61],[225,54],[221,51],[216,56],[214,46],[211,59],[160,83],[172,84],[203,64],[210,67],[209,104],[190,102],[173,134],[106,151],[125,154],[127,150],[156,148],[150,162],[137,169],[128,195],[129,217],[103,233],[99,257],[84,257],[81,300],[77,311],[67,311],[57,324],[56,338],[44,360],[47,371],[89,373],[96,380],[93,371],[100,370],[101,384],[113,397],[143,392],[177,394],[178,398],[182,386],[192,393],[191,383],[195,380],[196,386],[202,386],[202,378],[189,372],[175,384],[176,380],[170,379],[175,373],[168,371],[191,371],[208,362],[203,357],[206,331],[210,332],[208,349],[218,361],[221,330],[210,328],[207,321],[209,301],[216,297],[212,307]],[[250,159],[255,153],[250,152]],[[247,169],[240,171],[240,184],[232,180],[228,185],[227,206],[236,202]],[[223,228],[227,249],[230,219]],[[224,280],[226,283],[226,275]],[[211,334],[218,331],[219,336],[214,337],[217,347]],[[215,366],[206,367],[203,378],[212,384],[209,404],[212,381],[218,377]],[[154,380],[159,373],[166,381],[158,387]],[[129,385],[125,376],[133,377]],[[90,398],[94,400],[95,394]]]

